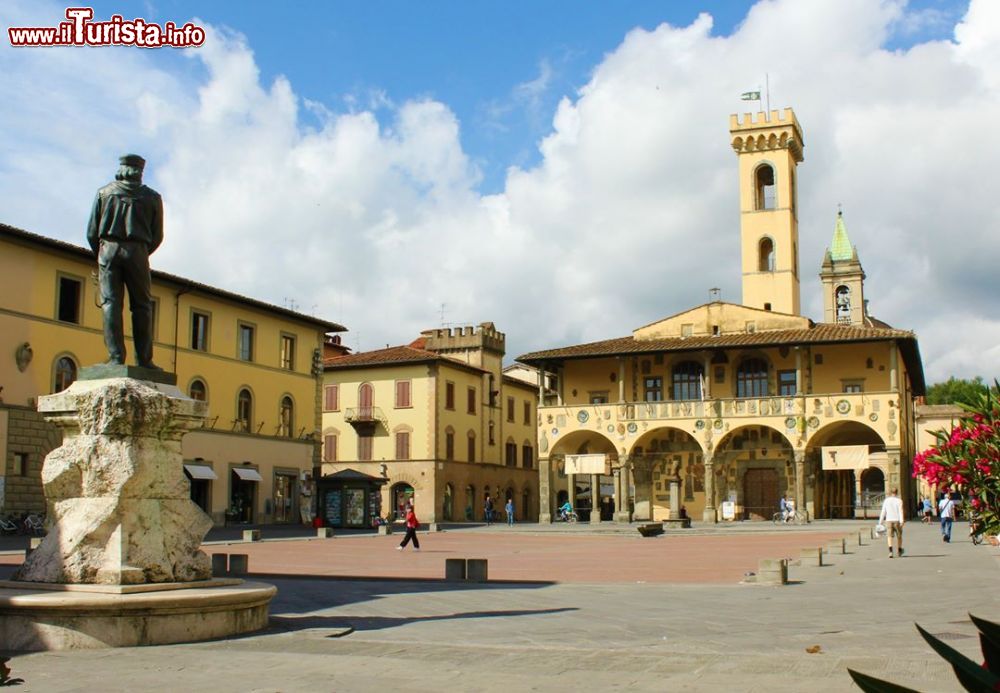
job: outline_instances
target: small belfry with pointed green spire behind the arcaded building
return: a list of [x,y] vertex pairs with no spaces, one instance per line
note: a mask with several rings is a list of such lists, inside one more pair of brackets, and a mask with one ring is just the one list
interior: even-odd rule
[[843,212],[837,212],[833,240],[823,256],[819,272],[823,282],[823,322],[841,325],[863,325],[867,316],[865,304],[865,271],[858,259],[858,249],[847,237]]

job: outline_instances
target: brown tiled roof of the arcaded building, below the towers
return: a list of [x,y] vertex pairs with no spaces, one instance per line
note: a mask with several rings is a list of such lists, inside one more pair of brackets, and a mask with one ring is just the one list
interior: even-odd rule
[[561,349],[534,351],[518,356],[521,363],[539,365],[543,361],[585,358],[594,356],[622,356],[656,351],[697,351],[702,349],[726,349],[732,347],[765,347],[794,344],[834,344],[837,342],[868,342],[885,340],[916,340],[912,332],[865,327],[861,325],[834,325],[817,323],[802,330],[767,330],[758,332],[734,332],[718,337],[700,335],[694,337],[669,337],[664,339],[637,340],[633,337],[606,339],[601,342],[578,344]]

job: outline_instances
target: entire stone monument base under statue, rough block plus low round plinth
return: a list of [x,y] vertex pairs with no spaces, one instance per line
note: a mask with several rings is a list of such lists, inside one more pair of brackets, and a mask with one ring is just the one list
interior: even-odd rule
[[[6,648],[160,645],[267,625],[275,588],[212,580],[200,548],[212,521],[191,500],[181,437],[201,425],[205,403],[185,397],[172,374],[152,373],[160,382],[99,377],[39,398],[63,429],[42,467],[53,526],[0,585]],[[226,564],[216,556],[215,572]]]

